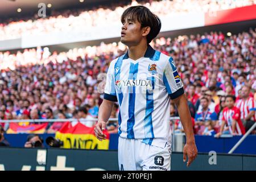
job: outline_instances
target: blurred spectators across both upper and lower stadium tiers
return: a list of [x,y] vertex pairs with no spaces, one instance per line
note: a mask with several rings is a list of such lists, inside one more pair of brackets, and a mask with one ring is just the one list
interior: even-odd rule
[[[144,2],[143,5],[161,17],[173,13],[210,13],[255,3],[255,0],[166,0]],[[131,2],[131,5],[137,5],[137,2]],[[130,5],[117,3],[90,10],[52,11],[47,18],[35,15],[33,18],[5,20],[0,23],[0,39],[111,26],[111,23],[119,22],[127,6]],[[160,37],[150,43],[154,49],[175,60],[195,134],[241,135],[255,123],[255,44],[256,29],[253,28],[228,36],[212,31],[175,38]],[[110,62],[126,51],[121,42],[102,42],[100,46],[77,47],[67,52],[51,51],[48,47],[0,52],[0,119],[97,119],[105,73]],[[227,107],[237,107],[239,117],[227,118]],[[179,116],[174,103],[171,103],[170,113],[171,117]],[[115,104],[110,118],[117,116],[118,105]],[[233,120],[235,129],[239,125],[240,131],[233,131]],[[83,122],[89,127],[95,123]],[[20,126],[30,124],[19,122]],[[0,125],[4,130],[9,127],[9,123],[0,122]],[[55,133],[62,125],[63,122],[49,123],[46,133]],[[171,119],[170,125],[176,133],[183,132],[179,119]],[[109,122],[109,133],[117,133],[117,127],[118,122]]]

